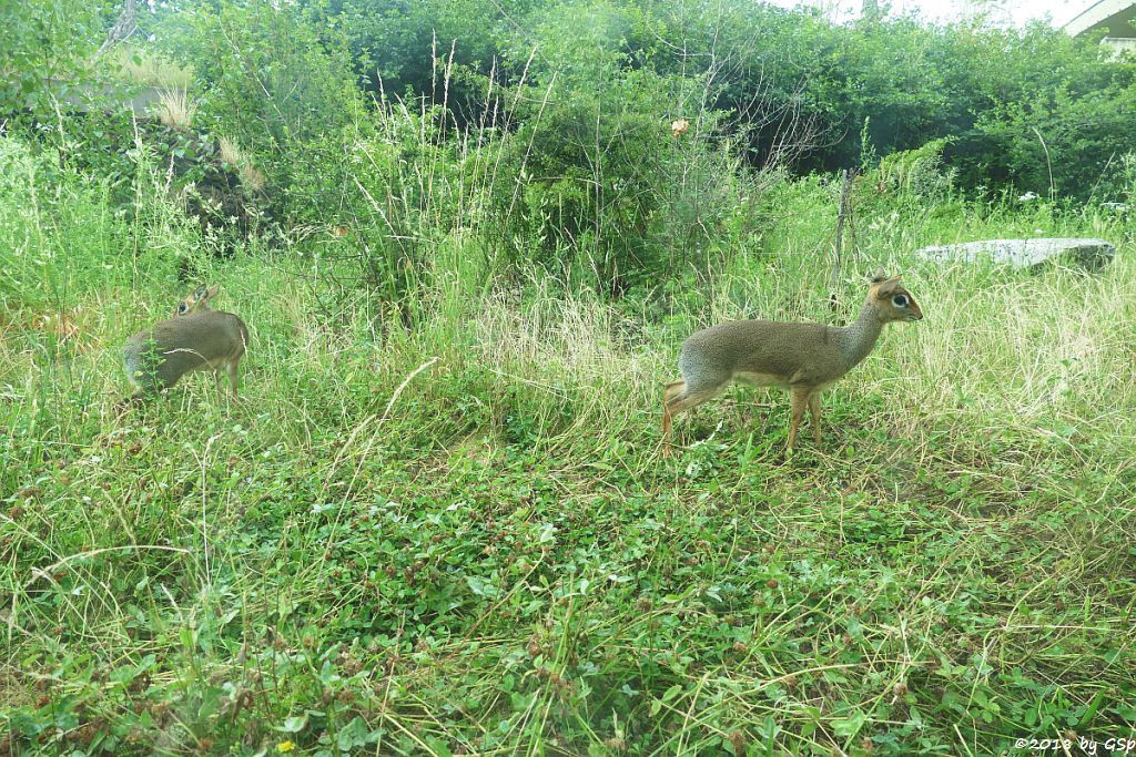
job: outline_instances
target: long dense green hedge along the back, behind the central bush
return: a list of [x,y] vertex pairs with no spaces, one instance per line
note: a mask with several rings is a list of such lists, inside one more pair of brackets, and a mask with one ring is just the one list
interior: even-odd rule
[[[1050,169],[1029,146],[1036,128],[1060,154],[1087,150],[1083,163],[1050,161],[1058,191],[1085,199],[1100,188],[1109,157],[1126,149],[1120,135],[1133,125],[1136,64],[1109,60],[1094,40],[1042,24],[1019,31],[980,17],[945,26],[899,17],[834,25],[745,0],[467,0],[383,9],[358,0],[332,15],[359,30],[352,49],[364,69],[377,65],[398,91],[435,101],[435,57],[450,60],[451,47],[458,68],[494,73],[506,86],[556,75],[574,94],[586,90],[604,102],[626,95],[620,82],[629,72],[693,77],[707,85],[690,89],[703,93],[696,110],[729,113],[759,166],[833,170],[854,166],[866,148],[887,154],[952,136],[945,159],[963,187],[1012,182],[1038,191],[1047,188],[1036,182]],[[595,75],[601,69],[603,77]],[[476,120],[484,103],[458,84],[456,117]],[[687,111],[691,104],[674,103]],[[866,120],[868,145],[858,137]]]

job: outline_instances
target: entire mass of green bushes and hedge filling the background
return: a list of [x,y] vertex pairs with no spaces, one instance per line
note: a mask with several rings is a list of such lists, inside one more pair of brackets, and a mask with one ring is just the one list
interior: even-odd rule
[[[705,271],[760,234],[765,179],[745,162],[871,171],[875,155],[932,149],[942,171],[912,168],[943,182],[904,188],[913,202],[1051,176],[1055,196],[1124,191],[1110,126],[1127,123],[1131,66],[1039,26],[835,26],[747,2],[345,0],[191,3],[165,28],[198,73],[201,128],[264,168],[286,226],[358,263],[327,274],[392,302],[423,295],[425,251],[454,234],[476,239],[486,284],[536,263],[623,294]],[[356,85],[368,72],[384,81],[370,102]],[[1061,127],[1068,113],[1102,126]],[[679,118],[693,127],[669,135]]]

